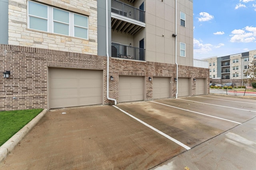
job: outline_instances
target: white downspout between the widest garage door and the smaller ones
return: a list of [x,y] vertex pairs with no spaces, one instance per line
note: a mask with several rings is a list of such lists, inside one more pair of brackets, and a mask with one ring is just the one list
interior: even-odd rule
[[109,97],[109,54],[108,54],[108,0],[106,0],[106,53],[107,53],[107,98],[115,102],[116,99]]

